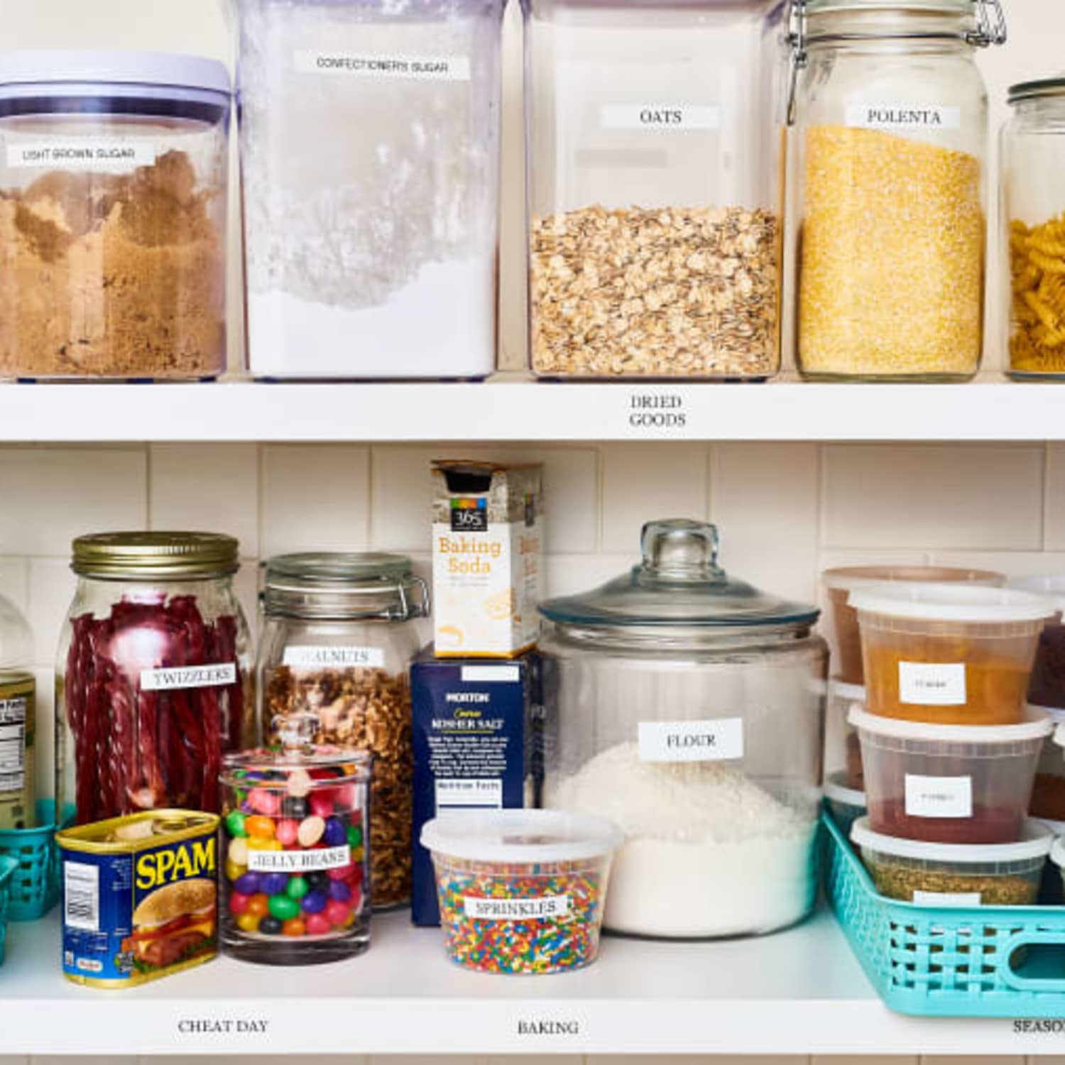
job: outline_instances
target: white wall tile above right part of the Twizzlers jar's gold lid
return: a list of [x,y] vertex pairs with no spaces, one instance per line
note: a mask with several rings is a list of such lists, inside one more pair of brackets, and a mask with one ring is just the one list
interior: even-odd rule
[[259,448],[152,444],[148,521],[153,529],[228,532],[259,554]]

